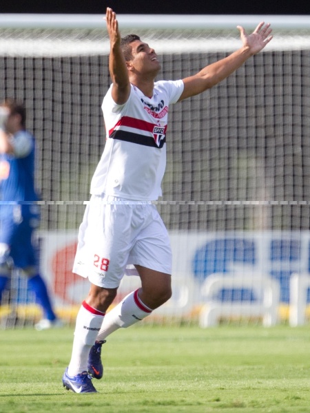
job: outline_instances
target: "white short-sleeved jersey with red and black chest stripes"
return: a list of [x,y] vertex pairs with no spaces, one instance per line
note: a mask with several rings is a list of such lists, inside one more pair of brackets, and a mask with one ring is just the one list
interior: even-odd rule
[[169,104],[176,103],[183,81],[158,81],[149,98],[131,85],[124,105],[112,99],[112,85],[103,99],[107,141],[94,172],[90,193],[128,200],[157,200],[166,167]]

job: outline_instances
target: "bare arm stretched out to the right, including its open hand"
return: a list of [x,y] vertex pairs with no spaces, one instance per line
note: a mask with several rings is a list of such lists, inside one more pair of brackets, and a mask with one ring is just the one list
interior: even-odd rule
[[183,79],[184,90],[179,101],[200,94],[223,81],[245,63],[249,57],[260,52],[272,39],[270,24],[265,25],[263,21],[249,35],[246,34],[242,26],[237,26],[237,28],[240,31],[242,47],[225,59],[207,65],[194,76]]

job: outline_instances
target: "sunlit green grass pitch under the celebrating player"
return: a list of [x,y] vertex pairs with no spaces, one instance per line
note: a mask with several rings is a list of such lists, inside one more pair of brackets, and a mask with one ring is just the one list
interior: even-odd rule
[[0,331],[0,412],[310,412],[310,327],[137,326],[103,346],[98,394],[63,388],[73,329]]

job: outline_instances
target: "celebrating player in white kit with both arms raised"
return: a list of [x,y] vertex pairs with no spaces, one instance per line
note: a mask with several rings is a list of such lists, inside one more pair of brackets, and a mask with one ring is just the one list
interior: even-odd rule
[[[106,337],[144,319],[172,295],[169,237],[152,204],[161,195],[165,172],[169,105],[223,81],[272,38],[269,24],[260,23],[250,35],[238,26],[239,50],[183,80],[155,82],[161,63],[154,49],[135,34],[122,39],[111,8],[105,19],[112,78],[102,105],[107,140],[92,178],[73,268],[91,284],[63,374],[63,386],[76,393],[96,392],[92,377],[103,375]],[[138,271],[141,288],[105,315],[127,264]]]

